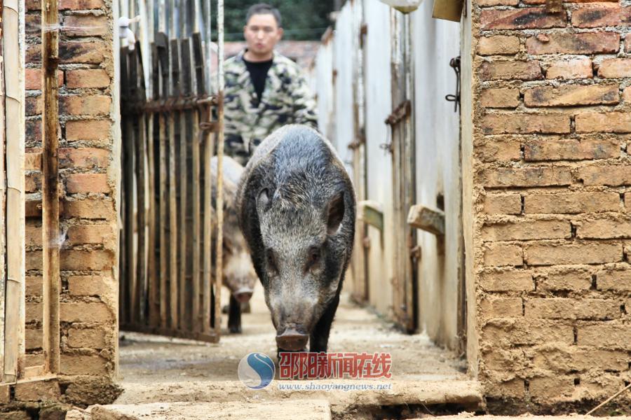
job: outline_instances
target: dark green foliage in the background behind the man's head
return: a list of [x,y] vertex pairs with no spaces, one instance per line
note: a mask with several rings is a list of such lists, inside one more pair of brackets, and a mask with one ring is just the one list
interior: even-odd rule
[[[225,0],[225,37],[226,41],[243,41],[243,26],[247,9],[256,0]],[[333,10],[334,0],[271,0],[266,1],[280,10],[283,15],[285,39],[296,41],[318,40],[330,25],[329,13]],[[212,2],[215,6],[215,2]],[[217,25],[217,10],[212,10],[213,29]],[[213,30],[212,38],[217,39]]]

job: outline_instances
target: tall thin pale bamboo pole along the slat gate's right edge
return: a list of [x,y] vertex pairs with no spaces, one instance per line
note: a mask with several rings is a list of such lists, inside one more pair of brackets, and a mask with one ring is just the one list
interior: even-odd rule
[[217,44],[219,66],[217,71],[217,116],[219,124],[217,144],[217,265],[215,267],[215,331],[222,328],[222,281],[224,241],[224,0],[217,0]]

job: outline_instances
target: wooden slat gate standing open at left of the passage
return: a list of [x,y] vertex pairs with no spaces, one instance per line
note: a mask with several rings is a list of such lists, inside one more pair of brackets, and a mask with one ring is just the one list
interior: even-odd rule
[[140,40],[121,48],[121,329],[217,342],[222,246],[214,276],[210,253],[223,197],[215,217],[210,160],[223,111],[211,89],[210,0],[147,5],[121,2],[142,22]]

